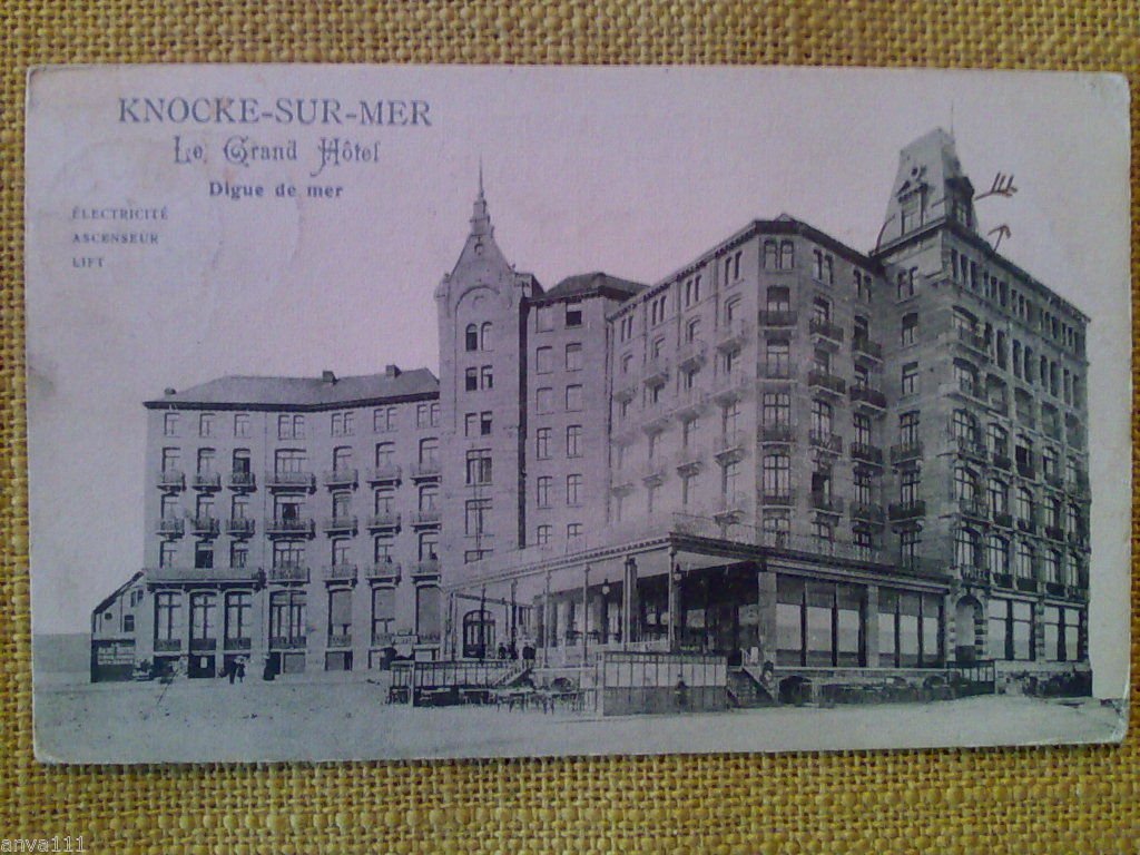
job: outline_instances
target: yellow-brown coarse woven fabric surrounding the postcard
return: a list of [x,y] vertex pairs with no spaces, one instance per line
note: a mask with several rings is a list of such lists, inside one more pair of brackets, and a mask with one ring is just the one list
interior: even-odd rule
[[[1135,87],[1140,3],[603,0],[531,8],[500,0],[373,8],[235,0],[158,8],[128,0],[3,0],[0,57],[0,838],[83,834],[91,852],[137,853],[1140,852],[1134,731],[1122,748],[38,765],[31,748],[22,284],[23,98],[31,64],[929,65],[1117,71]],[[1138,116],[1134,100],[1133,164]],[[1133,255],[1140,258],[1135,170],[1132,193]],[[1138,593],[1133,674],[1140,670]],[[1133,692],[1135,685],[1133,676]]]

